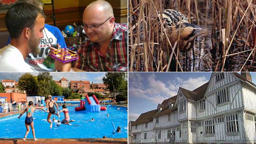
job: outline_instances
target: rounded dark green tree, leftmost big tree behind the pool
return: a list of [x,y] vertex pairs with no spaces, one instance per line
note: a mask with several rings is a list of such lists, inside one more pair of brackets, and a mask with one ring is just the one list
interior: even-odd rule
[[29,96],[37,96],[38,80],[37,76],[31,73],[24,73],[18,78],[18,89],[26,91]]

